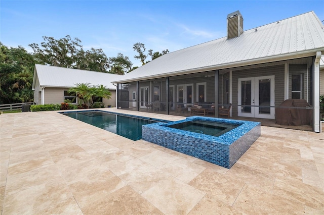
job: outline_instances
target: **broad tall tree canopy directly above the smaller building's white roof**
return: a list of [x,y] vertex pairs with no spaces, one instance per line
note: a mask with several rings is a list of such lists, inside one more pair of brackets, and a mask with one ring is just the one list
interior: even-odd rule
[[71,39],[69,35],[64,38],[43,36],[41,45],[31,43],[34,56],[42,64],[57,67],[66,67],[80,70],[108,72],[109,61],[101,48],[84,50],[81,40],[77,37]]

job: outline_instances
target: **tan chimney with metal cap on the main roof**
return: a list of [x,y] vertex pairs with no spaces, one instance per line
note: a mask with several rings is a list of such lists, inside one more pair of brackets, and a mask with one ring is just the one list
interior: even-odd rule
[[227,39],[238,37],[243,33],[243,17],[239,11],[227,15]]

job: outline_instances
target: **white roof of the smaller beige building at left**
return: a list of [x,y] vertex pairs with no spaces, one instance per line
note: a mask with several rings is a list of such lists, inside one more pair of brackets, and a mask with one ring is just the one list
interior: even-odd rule
[[111,82],[119,79],[121,75],[36,64],[33,88],[35,87],[36,76],[39,85],[43,87],[67,88],[73,87],[77,83],[90,83],[91,85],[102,84],[109,89],[116,89],[116,86]]

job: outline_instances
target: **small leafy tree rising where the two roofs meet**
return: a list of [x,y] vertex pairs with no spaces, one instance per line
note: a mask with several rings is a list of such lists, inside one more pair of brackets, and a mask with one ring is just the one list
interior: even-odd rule
[[111,65],[110,73],[124,75],[125,73],[132,71],[133,63],[122,53],[118,53],[117,57],[109,58],[109,63]]

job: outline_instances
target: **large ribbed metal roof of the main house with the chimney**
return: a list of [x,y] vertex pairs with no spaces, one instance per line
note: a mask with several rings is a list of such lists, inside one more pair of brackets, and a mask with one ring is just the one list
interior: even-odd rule
[[167,53],[115,83],[303,58],[315,56],[316,51],[324,51],[324,26],[314,12],[308,12],[244,31],[235,38],[223,37]]

